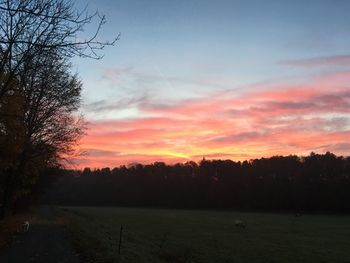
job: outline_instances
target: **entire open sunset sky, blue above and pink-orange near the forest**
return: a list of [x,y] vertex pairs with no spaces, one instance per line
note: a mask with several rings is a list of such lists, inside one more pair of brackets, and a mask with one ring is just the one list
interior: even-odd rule
[[[76,167],[350,155],[350,1],[76,1],[107,23],[74,58]],[[82,35],[91,35],[96,23]]]

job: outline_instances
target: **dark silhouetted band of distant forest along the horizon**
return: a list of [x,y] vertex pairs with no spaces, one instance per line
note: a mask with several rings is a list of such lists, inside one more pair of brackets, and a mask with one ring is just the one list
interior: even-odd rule
[[350,212],[350,157],[311,153],[244,162],[156,162],[61,170],[43,200],[58,205]]

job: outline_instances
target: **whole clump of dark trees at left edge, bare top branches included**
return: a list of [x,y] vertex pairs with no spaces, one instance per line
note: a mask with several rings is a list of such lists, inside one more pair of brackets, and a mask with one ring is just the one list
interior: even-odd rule
[[[97,19],[88,39],[78,34]],[[0,0],[1,214],[30,191],[42,168],[71,154],[83,134],[73,56],[100,59],[105,17],[69,0]],[[7,149],[7,150],[5,150]]]

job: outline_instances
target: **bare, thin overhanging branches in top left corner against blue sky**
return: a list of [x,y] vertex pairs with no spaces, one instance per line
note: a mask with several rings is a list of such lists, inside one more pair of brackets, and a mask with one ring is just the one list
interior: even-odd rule
[[[79,34],[97,20],[89,38]],[[100,50],[114,45],[99,41],[98,33],[106,18],[98,12],[74,9],[70,0],[0,0],[0,72],[7,73],[0,87],[0,99],[17,78],[23,63],[35,56],[55,50],[64,57],[80,56],[100,59]]]

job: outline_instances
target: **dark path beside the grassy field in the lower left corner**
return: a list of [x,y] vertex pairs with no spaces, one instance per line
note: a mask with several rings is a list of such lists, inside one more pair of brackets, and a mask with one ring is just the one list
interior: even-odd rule
[[16,236],[13,245],[0,254],[6,263],[80,263],[78,254],[65,236],[64,225],[55,220],[48,206],[39,208],[39,220],[27,233]]

